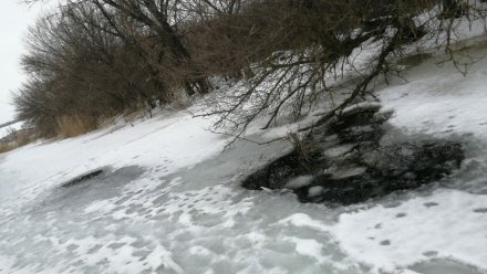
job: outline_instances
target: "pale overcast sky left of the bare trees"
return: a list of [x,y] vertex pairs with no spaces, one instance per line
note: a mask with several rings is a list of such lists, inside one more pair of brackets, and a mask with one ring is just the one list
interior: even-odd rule
[[24,51],[22,39],[42,10],[42,7],[31,8],[20,1],[0,0],[0,124],[13,119],[11,91],[24,78],[19,66]]

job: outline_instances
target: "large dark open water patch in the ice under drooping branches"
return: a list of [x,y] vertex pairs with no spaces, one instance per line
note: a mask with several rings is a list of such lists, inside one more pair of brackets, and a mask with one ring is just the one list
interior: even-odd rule
[[453,175],[465,159],[459,141],[383,140],[392,116],[359,103],[315,127],[296,148],[247,177],[248,189],[291,189],[301,202],[351,204],[415,189]]

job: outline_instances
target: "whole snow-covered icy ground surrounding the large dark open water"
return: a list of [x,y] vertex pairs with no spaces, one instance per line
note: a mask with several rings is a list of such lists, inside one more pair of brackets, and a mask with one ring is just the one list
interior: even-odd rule
[[466,144],[453,178],[352,207],[302,204],[238,185],[288,144],[220,154],[211,120],[159,114],[0,155],[0,273],[487,273],[487,60],[465,77],[439,60],[380,95],[396,112],[390,138]]

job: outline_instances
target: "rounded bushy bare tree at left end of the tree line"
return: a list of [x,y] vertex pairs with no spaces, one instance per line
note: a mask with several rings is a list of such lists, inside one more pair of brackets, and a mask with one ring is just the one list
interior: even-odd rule
[[127,44],[92,6],[63,7],[40,19],[27,41],[22,65],[31,80],[14,103],[19,116],[44,135],[54,134],[55,120],[63,116],[96,120],[139,102],[151,110],[173,99],[139,49]]

